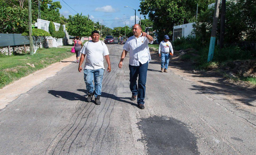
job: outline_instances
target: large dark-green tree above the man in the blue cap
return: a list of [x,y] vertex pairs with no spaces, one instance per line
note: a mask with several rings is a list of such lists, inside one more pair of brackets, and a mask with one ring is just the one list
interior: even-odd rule
[[[213,1],[200,0],[199,12]],[[196,16],[197,3],[191,0],[141,0],[140,10],[144,17],[148,15],[153,21],[153,29],[157,30],[159,39],[163,39],[166,34],[172,35],[174,23],[188,23]]]

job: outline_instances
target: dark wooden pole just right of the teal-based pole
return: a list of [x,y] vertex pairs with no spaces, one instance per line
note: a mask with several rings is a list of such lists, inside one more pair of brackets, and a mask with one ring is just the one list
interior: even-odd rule
[[224,47],[225,12],[226,12],[226,0],[222,0],[222,2],[221,2],[221,17],[220,17],[220,48]]

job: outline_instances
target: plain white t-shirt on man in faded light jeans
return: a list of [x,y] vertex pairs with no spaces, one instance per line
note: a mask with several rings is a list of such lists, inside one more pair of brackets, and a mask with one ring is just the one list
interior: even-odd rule
[[105,43],[90,40],[83,45],[81,51],[83,54],[86,54],[84,69],[105,69],[103,65],[103,55],[109,55],[109,50]]

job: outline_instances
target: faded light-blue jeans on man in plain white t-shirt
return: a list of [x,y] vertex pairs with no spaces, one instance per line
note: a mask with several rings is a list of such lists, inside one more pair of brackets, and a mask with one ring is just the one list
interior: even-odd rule
[[104,69],[84,69],[84,81],[86,84],[86,89],[88,90],[88,93],[93,93],[93,79],[94,79],[94,86],[95,86],[95,92],[94,96],[97,97],[98,95],[101,95],[101,88],[102,88],[102,79],[103,79],[103,73]]

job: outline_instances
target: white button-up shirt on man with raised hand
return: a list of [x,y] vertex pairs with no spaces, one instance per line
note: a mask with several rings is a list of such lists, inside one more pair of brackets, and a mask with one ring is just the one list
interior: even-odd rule
[[124,50],[130,52],[129,64],[132,66],[140,66],[140,63],[144,64],[150,62],[151,56],[148,43],[153,44],[153,42],[154,41],[150,43],[142,34],[138,38],[135,36],[129,37],[123,47]]

